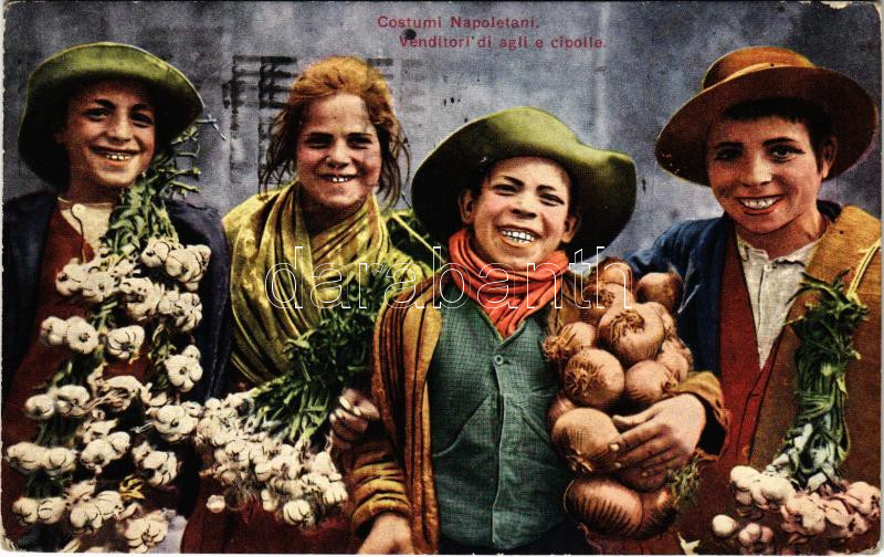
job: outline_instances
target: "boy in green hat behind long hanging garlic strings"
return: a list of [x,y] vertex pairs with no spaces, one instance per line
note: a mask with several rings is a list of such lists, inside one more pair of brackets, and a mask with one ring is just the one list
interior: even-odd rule
[[[39,341],[50,315],[87,315],[55,287],[63,266],[87,261],[99,249],[120,193],[131,187],[176,136],[202,111],[190,81],[176,67],[135,46],[92,43],[57,52],[28,78],[19,151],[50,190],[3,203],[3,445],[30,441],[36,422],[24,417],[24,401],[66,358],[66,351]],[[179,240],[203,244],[211,260],[200,283],[204,319],[194,330],[202,379],[193,397],[206,396],[227,360],[224,307],[228,295],[227,243],[219,214],[191,200],[165,200]],[[110,364],[105,375],[138,376],[141,356],[126,367]],[[3,463],[2,517],[7,535],[22,528],[11,502],[22,494],[21,474]]]

